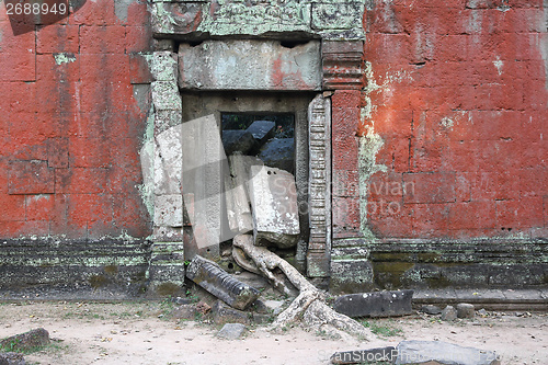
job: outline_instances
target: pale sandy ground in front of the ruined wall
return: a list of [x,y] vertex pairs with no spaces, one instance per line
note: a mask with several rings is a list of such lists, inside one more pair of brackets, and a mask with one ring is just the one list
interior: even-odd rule
[[55,339],[25,355],[27,364],[329,364],[335,351],[439,340],[496,351],[502,364],[548,364],[548,316],[493,313],[441,322],[426,315],[368,319],[369,341],[333,339],[298,328],[271,333],[250,328],[241,340],[216,338],[219,327],[169,318],[168,303],[1,304],[0,338],[43,327]]

